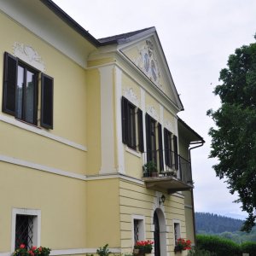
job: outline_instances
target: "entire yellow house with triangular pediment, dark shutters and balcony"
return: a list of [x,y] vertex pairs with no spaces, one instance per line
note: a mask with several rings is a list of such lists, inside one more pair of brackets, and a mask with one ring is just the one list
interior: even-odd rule
[[0,256],[194,242],[189,152],[204,141],[177,117],[155,28],[96,39],[50,0],[0,10]]

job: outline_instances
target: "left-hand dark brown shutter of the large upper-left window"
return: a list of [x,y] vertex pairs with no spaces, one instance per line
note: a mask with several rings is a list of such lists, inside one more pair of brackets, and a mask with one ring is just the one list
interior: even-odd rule
[[15,91],[18,61],[15,56],[4,53],[3,112],[15,115]]

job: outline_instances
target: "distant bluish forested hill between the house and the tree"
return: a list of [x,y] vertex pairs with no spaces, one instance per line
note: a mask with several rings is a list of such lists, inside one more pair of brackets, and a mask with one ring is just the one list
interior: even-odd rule
[[195,212],[195,231],[200,234],[236,232],[241,230],[242,223],[241,219],[224,217],[209,212]]

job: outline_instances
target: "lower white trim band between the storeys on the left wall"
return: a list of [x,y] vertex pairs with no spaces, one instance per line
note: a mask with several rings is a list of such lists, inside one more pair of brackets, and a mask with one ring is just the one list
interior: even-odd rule
[[11,156],[6,156],[3,154],[0,154],[0,161],[6,162],[9,164],[13,164],[13,165],[17,165],[17,166],[24,166],[24,167],[32,168],[32,169],[38,170],[38,171],[50,172],[50,173],[58,174],[61,176],[73,177],[73,178],[85,180],[85,175],[82,175],[82,174],[77,174],[74,172],[67,172],[67,171],[63,171],[60,169],[56,169],[54,167],[39,165],[36,163],[32,163],[30,161],[20,160],[20,159],[17,159],[17,158],[11,157]]

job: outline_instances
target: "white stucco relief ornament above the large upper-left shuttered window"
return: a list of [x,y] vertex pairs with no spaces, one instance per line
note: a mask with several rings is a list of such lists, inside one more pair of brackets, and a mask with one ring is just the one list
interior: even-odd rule
[[20,60],[25,61],[32,67],[44,72],[44,61],[42,60],[42,57],[38,55],[38,52],[32,48],[32,46],[15,42],[13,49],[14,55]]

